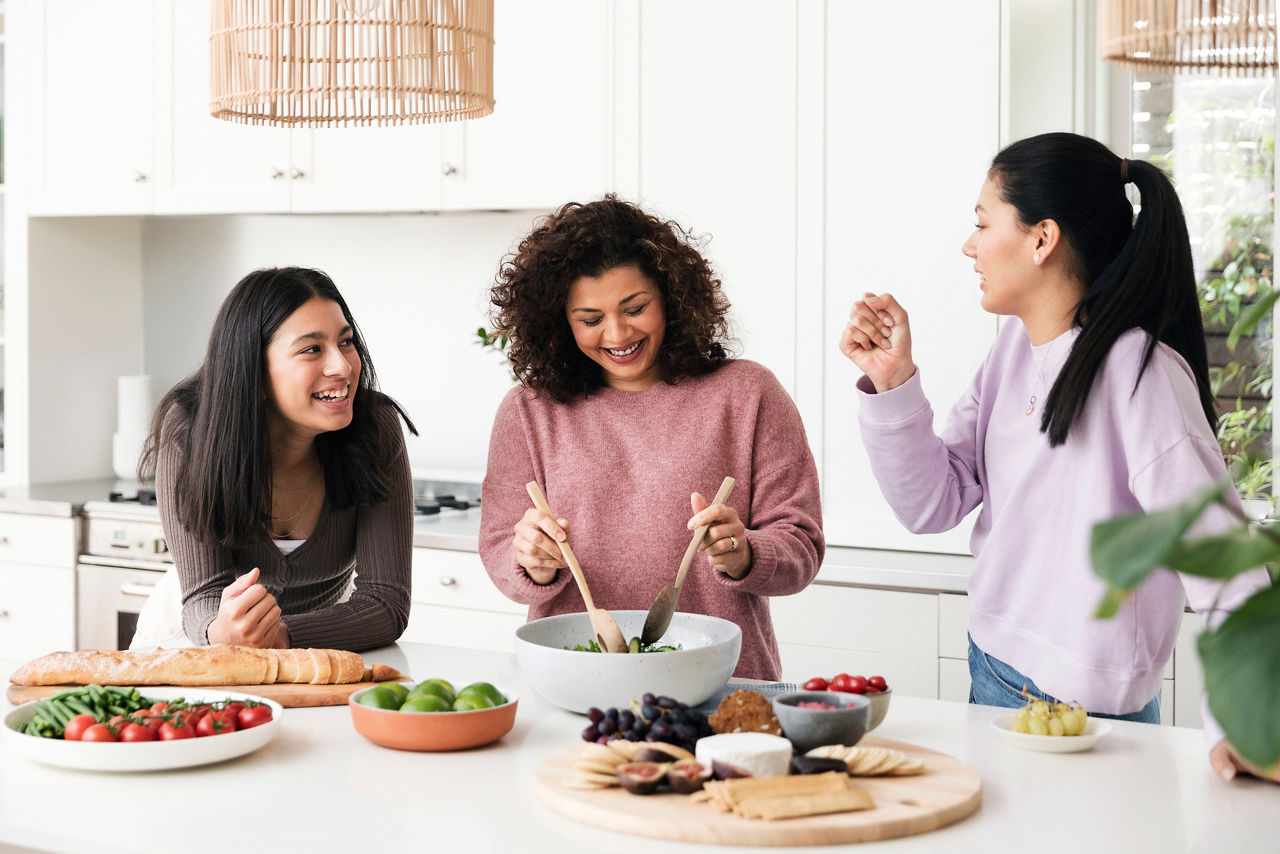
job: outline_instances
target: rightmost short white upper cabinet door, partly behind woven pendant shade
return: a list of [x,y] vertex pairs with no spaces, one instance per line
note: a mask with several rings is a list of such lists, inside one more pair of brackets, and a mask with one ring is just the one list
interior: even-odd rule
[[443,125],[443,207],[541,209],[611,187],[612,3],[495,0],[494,111]]

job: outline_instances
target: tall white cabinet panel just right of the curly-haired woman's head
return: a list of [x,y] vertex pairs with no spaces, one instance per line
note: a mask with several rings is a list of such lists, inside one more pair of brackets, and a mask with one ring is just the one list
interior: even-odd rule
[[643,0],[639,18],[641,201],[712,238],[741,355],[795,394],[796,4]]

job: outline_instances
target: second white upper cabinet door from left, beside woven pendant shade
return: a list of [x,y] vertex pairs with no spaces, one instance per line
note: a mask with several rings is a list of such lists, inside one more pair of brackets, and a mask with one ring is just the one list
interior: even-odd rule
[[[287,213],[293,166],[284,128],[223,122],[209,114],[209,0],[169,0],[172,37],[160,99],[165,183],[159,214]],[[152,50],[156,50],[152,46]],[[303,132],[305,133],[305,132]]]

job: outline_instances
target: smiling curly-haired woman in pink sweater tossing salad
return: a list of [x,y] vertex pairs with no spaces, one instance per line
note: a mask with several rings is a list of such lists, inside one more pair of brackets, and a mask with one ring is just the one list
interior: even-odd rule
[[[687,232],[614,196],[568,204],[504,259],[490,297],[520,380],[480,504],[498,589],[530,620],[584,611],[557,545],[572,524],[595,604],[648,609],[710,525],[680,608],[741,626],[737,676],[778,679],[767,597],[818,572],[818,471],[773,374],[730,359],[728,301]],[[727,475],[735,492],[708,506]],[[530,507],[530,480],[561,517]]]

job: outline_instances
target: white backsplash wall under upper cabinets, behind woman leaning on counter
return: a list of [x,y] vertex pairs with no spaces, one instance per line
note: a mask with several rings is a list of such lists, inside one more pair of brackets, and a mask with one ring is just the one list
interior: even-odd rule
[[484,351],[488,288],[540,211],[387,216],[184,216],[143,220],[143,342],[156,397],[204,359],[230,288],[262,266],[314,266],[342,291],[384,392],[419,428],[419,467],[483,471],[509,388]]

